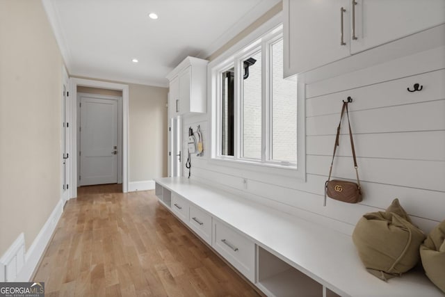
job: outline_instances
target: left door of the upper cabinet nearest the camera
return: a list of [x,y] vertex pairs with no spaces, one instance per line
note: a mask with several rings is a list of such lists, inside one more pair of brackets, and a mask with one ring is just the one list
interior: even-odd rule
[[284,0],[283,10],[284,77],[349,56],[349,0]]

